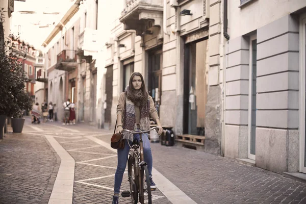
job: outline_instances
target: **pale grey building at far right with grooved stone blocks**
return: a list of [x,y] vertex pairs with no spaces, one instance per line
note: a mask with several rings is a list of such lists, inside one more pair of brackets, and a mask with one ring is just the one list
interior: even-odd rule
[[306,2],[227,4],[225,156],[306,173]]

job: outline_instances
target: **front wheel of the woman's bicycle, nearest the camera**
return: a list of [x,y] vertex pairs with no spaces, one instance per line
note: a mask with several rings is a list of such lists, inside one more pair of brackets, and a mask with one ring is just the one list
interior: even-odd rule
[[140,179],[140,202],[142,204],[152,204],[150,177],[147,166],[141,167]]

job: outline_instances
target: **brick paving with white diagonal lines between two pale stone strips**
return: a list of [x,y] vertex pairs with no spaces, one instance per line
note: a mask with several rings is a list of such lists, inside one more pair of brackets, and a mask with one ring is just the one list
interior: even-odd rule
[[[61,135],[67,138],[56,138],[56,140],[69,152],[76,163],[73,203],[111,203],[114,192],[114,174],[117,167],[116,153],[103,146],[96,146],[97,144],[89,139],[69,139],[73,135],[68,136],[64,132]],[[97,179],[99,177],[103,178]],[[83,183],[79,183],[80,181]],[[121,190],[130,190],[127,173],[123,175]],[[159,190],[152,192],[152,199],[155,199],[153,202],[156,204],[171,203]],[[119,195],[119,203],[131,203],[131,198],[123,198]]]

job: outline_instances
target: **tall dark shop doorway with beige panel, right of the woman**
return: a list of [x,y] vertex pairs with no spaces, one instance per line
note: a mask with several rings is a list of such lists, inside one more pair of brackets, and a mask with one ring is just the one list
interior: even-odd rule
[[185,46],[183,133],[205,135],[207,40]]

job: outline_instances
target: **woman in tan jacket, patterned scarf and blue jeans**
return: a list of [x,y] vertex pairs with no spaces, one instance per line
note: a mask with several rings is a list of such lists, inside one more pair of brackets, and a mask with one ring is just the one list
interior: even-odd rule
[[[119,96],[117,106],[117,131],[116,133],[122,133],[125,130],[148,130],[150,128],[149,117],[152,117],[159,129],[158,134],[161,135],[163,128],[158,117],[158,113],[154,106],[154,101],[151,96],[148,95],[143,77],[141,73],[134,72],[131,75],[129,86],[125,88]],[[122,121],[123,118],[123,121]],[[122,123],[123,122],[123,123]],[[129,137],[129,133],[123,133],[123,138]],[[139,134],[134,135],[134,140],[139,141]],[[143,152],[144,161],[148,165],[149,177],[151,189],[156,189],[156,185],[152,180],[152,152],[148,135],[142,137],[143,140]],[[123,149],[118,149],[118,165],[115,173],[114,184],[114,196],[112,204],[118,204],[119,192],[122,183],[123,173],[125,171],[127,158],[129,156],[130,145],[127,144],[129,140],[125,139],[125,145]]]

